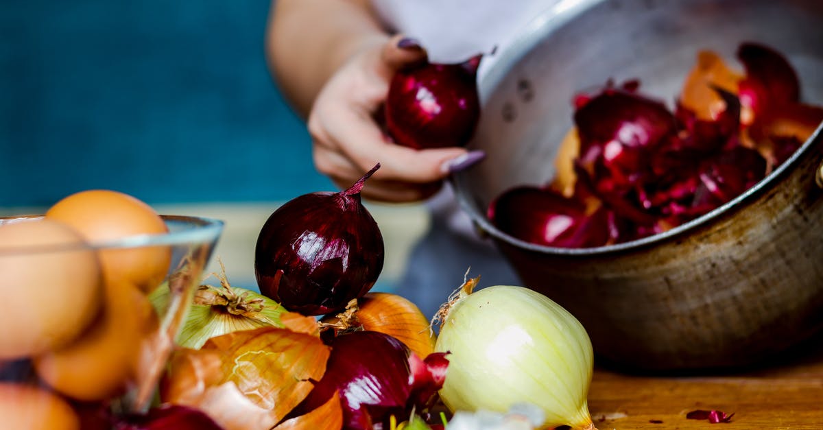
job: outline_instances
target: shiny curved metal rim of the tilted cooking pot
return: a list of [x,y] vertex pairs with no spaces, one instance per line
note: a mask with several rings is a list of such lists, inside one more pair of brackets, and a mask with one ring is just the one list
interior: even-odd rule
[[[551,33],[564,26],[567,22],[574,20],[589,8],[595,7],[607,0],[561,0],[555,7],[551,7],[542,12],[539,16],[529,22],[518,35],[514,42],[500,54],[495,63],[487,70],[486,74],[478,80],[478,91],[481,98],[481,106],[486,105],[488,97],[500,85],[500,82],[506,76],[508,68],[506,66],[519,63],[537,44],[540,44]],[[481,107],[482,109],[482,107]],[[520,240],[514,236],[500,231],[497,227],[491,224],[485,213],[479,213],[477,204],[472,200],[471,193],[465,191],[467,189],[467,173],[471,171],[458,172],[449,177],[449,182],[454,189],[454,194],[458,200],[459,206],[466,212],[468,216],[475,223],[475,226],[497,241],[504,241],[509,245],[515,245],[520,249],[537,252],[549,255],[565,255],[565,256],[596,256],[596,255],[615,255],[626,251],[636,250],[648,245],[655,245],[659,242],[668,241],[675,236],[681,236],[689,231],[696,230],[704,224],[714,221],[715,218],[722,217],[723,214],[732,211],[734,208],[744,206],[746,203],[751,203],[756,196],[765,193],[776,182],[788,175],[788,171],[799,164],[799,160],[807,153],[811,152],[811,147],[817,141],[823,139],[823,122],[817,125],[817,128],[811,136],[793,152],[791,157],[783,161],[774,171],[760,180],[756,185],[746,189],[742,194],[738,194],[734,199],[729,200],[723,205],[714,208],[709,213],[704,213],[700,217],[696,217],[689,222],[684,222],[681,225],[662,233],[654,234],[652,236],[642,237],[634,241],[625,241],[613,245],[596,246],[590,248],[561,248],[556,246],[537,245],[528,241]],[[468,145],[471,148],[471,143]]]

